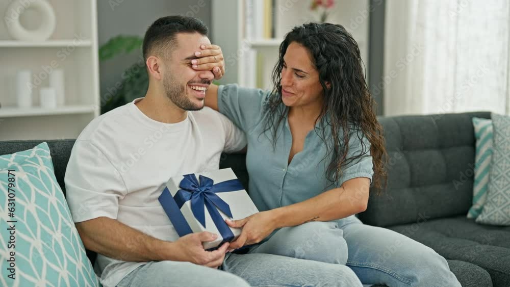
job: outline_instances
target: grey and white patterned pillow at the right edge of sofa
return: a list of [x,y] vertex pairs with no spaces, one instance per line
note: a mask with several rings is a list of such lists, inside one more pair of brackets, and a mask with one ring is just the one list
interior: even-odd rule
[[492,114],[493,156],[489,193],[478,223],[510,225],[510,116]]

